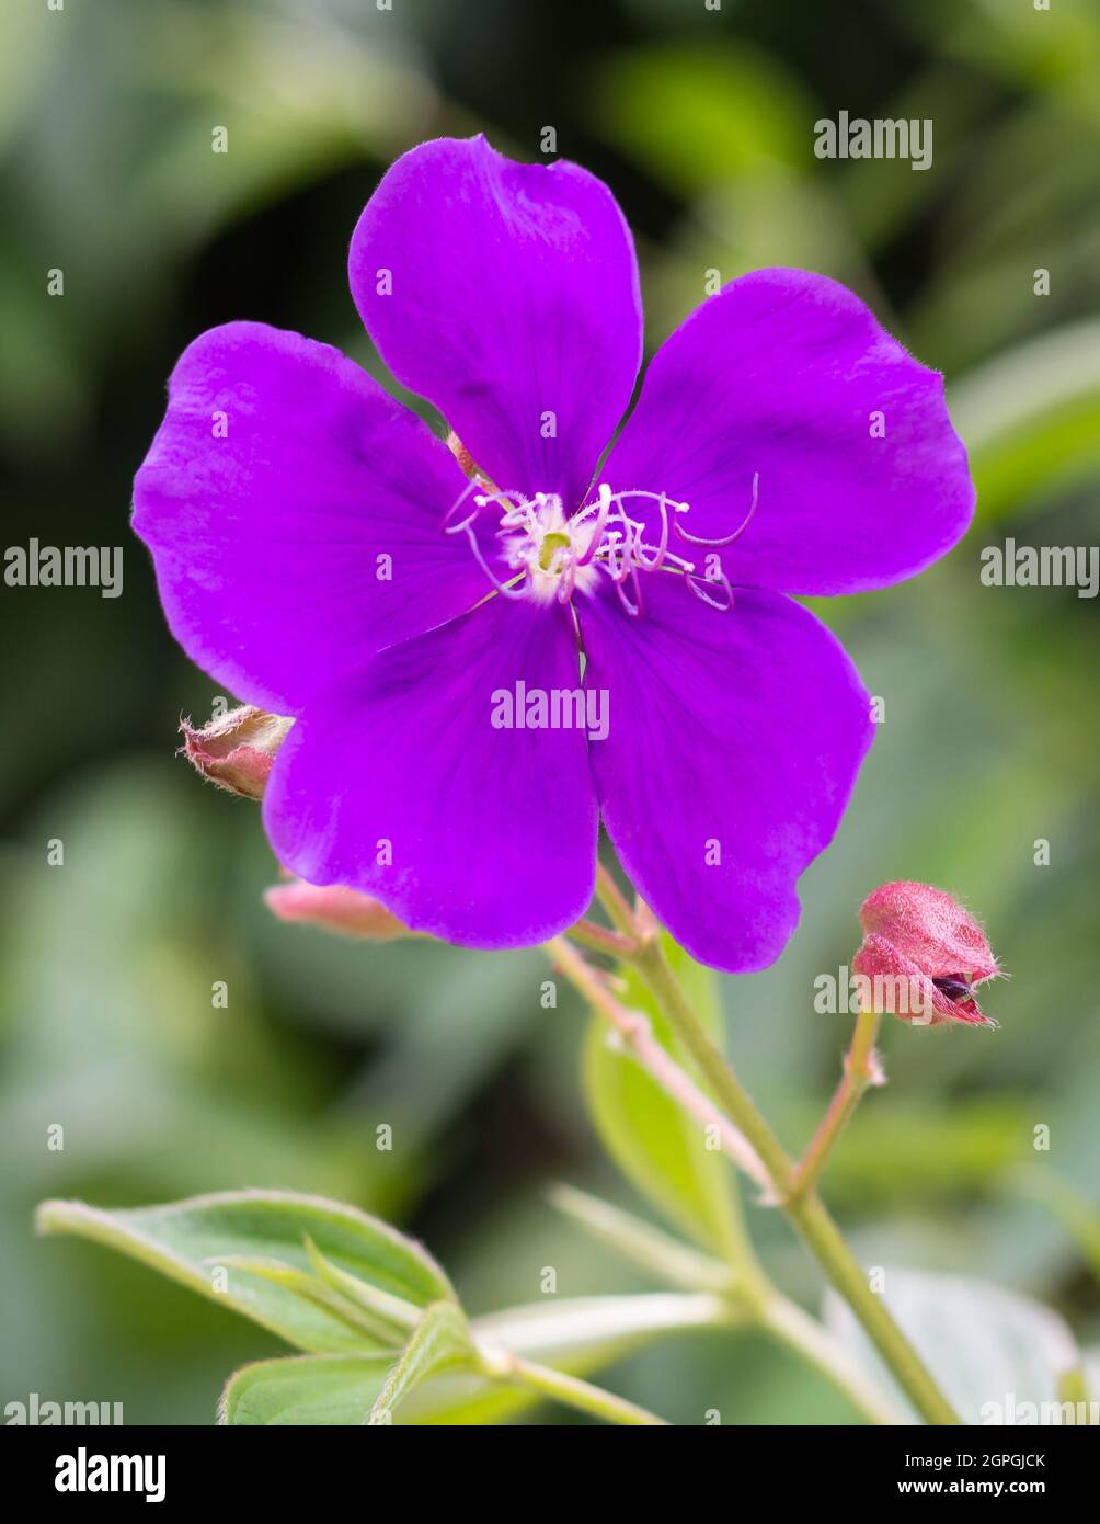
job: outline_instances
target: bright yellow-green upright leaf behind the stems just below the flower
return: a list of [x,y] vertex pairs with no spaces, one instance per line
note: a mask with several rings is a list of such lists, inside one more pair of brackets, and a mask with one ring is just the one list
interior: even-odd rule
[[[713,1036],[721,1033],[718,983],[675,942],[666,952],[695,1010]],[[623,1006],[641,1010],[654,1036],[687,1064],[654,997],[634,969],[625,971]],[[737,1237],[730,1161],[708,1149],[698,1122],[686,1116],[634,1056],[593,1017],[584,1049],[584,1084],[605,1148],[632,1184],[704,1248],[725,1259]]]

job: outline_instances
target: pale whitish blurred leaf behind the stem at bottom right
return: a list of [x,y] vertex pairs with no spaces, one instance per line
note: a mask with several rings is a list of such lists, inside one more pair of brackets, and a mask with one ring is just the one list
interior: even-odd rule
[[[1062,1401],[1063,1381],[1080,1356],[1070,1329],[1050,1308],[961,1276],[887,1269],[884,1277],[887,1306],[963,1423],[1012,1422],[1004,1414],[1013,1402],[1016,1422],[1027,1422],[1019,1416],[1022,1404],[1036,1404],[1042,1411],[1042,1404]],[[913,1413],[847,1305],[832,1291],[826,1323]]]

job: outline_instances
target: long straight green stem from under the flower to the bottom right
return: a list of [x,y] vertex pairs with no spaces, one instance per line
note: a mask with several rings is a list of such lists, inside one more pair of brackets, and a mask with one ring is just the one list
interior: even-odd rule
[[794,1192],[795,1166],[792,1160],[692,1010],[660,943],[657,940],[646,942],[638,951],[635,963],[698,1065],[711,1094],[763,1163],[779,1205],[821,1265],[829,1282],[862,1323],[897,1384],[928,1423],[958,1423],[955,1411],[940,1393],[923,1361],[887,1312],[882,1300],[870,1289],[864,1269],[844,1242],[821,1198],[817,1192],[803,1196]]

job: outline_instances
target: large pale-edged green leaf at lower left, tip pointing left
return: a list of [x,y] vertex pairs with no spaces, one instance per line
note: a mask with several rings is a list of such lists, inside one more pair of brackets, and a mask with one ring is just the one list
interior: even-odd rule
[[[41,1233],[76,1233],[117,1248],[318,1353],[363,1350],[369,1335],[323,1305],[314,1289],[323,1282],[303,1295],[296,1274],[285,1274],[311,1269],[306,1239],[335,1269],[385,1297],[419,1308],[454,1300],[446,1276],[419,1244],[366,1212],[318,1196],[241,1190],[123,1212],[47,1201],[35,1221]],[[253,1266],[242,1268],[241,1260]],[[218,1266],[225,1271],[224,1291],[215,1289]]]

